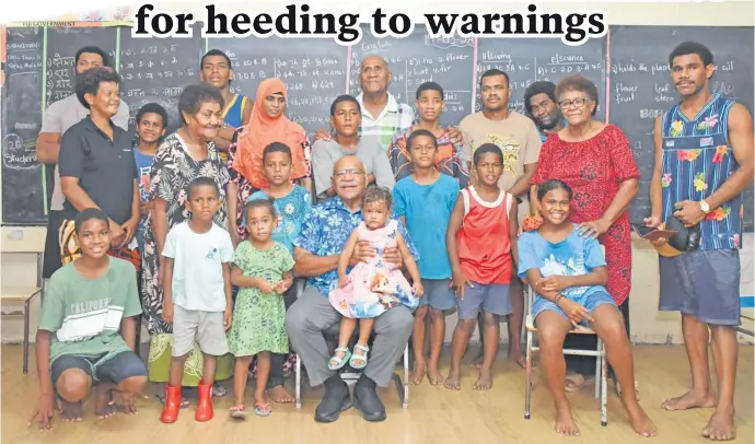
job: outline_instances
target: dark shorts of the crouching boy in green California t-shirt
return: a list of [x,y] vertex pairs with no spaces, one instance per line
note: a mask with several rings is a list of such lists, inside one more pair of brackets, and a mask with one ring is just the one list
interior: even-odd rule
[[130,350],[121,351],[113,357],[105,354],[100,357],[63,354],[53,361],[53,365],[50,365],[53,387],[58,386],[60,375],[70,369],[84,371],[92,378],[92,382],[102,381],[115,385],[133,376],[147,377],[147,365]]

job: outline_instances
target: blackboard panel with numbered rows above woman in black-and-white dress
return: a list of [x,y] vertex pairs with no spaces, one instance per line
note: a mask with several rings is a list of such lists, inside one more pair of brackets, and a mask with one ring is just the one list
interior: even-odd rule
[[201,24],[195,23],[191,38],[133,38],[131,28],[120,33],[120,98],[129,109],[129,128],[139,108],[154,102],[167,112],[170,135],[181,126],[178,96],[184,86],[199,82],[199,60],[204,54]]

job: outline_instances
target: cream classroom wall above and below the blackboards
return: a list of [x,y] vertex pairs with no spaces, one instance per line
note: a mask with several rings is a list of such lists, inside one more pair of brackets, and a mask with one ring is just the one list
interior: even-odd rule
[[[326,7],[323,4],[335,4],[334,2],[317,2],[312,4],[311,12],[324,12]],[[328,7],[328,12],[359,12],[362,16],[368,16],[374,8],[381,7],[381,2],[339,2]],[[652,3],[653,13],[648,12],[649,3]],[[204,5],[199,2],[170,2],[153,3],[161,10],[169,12],[193,12],[198,16],[204,16]],[[221,12],[233,13],[234,11],[251,11],[251,2],[226,2],[218,1],[218,9]],[[254,10],[265,9],[266,5],[278,5],[281,3],[254,2]],[[410,7],[408,5],[410,4]],[[448,12],[465,13],[476,12],[503,12],[504,10],[524,10],[525,2],[432,2],[428,7],[427,2],[404,2],[400,9],[384,7],[386,12],[404,12],[413,17],[421,17],[427,12]],[[579,8],[582,7],[582,8]],[[332,8],[332,9],[330,9]],[[724,0],[715,2],[548,2],[537,3],[538,11],[548,12],[573,12],[576,8],[588,10],[603,10],[606,13],[609,24],[625,25],[707,25],[707,26],[753,26],[755,8],[752,0]],[[43,17],[39,17],[43,19]],[[35,252],[44,249],[45,229],[44,227],[8,227],[0,230],[0,279],[4,285],[28,285],[36,281],[36,255],[30,253],[5,253],[5,252]],[[755,294],[753,288],[753,276],[755,274],[753,244],[755,236],[747,233],[743,236],[744,248],[741,252],[742,259],[742,280],[741,291],[743,295]],[[641,239],[632,241],[632,291],[630,300],[630,318],[632,341],[635,343],[681,343],[681,328],[678,314],[658,313],[659,277],[658,277],[658,255]],[[3,307],[4,308],[4,307]],[[38,302],[32,309],[32,325],[36,326],[38,313]],[[451,334],[455,326],[456,315],[448,318],[446,341],[451,340]],[[22,339],[22,320],[7,320],[1,325],[0,339],[3,342],[18,342]],[[506,328],[502,328],[502,341],[508,341]],[[32,336],[34,328],[32,329]],[[476,335],[476,334],[475,334]],[[742,341],[746,341],[741,337]]]

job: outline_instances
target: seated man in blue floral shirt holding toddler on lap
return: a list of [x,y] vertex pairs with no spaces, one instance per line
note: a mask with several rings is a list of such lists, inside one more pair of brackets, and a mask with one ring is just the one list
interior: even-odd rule
[[[351,407],[349,388],[337,371],[328,370],[330,352],[324,332],[337,338],[341,315],[330,305],[328,293],[338,284],[338,256],[351,232],[363,221],[361,198],[367,185],[362,162],[353,155],[339,159],[330,178],[336,196],[318,203],[304,218],[302,230],[293,242],[294,273],[310,278],[304,293],[286,314],[286,331],[291,346],[301,357],[310,383],[324,384],[325,395],[315,410],[315,421],[333,422],[340,412]],[[415,260],[419,254],[409,233],[398,222],[398,230]],[[374,254],[368,242],[355,248],[347,272],[353,265],[367,261]],[[385,260],[402,266],[397,249],[386,249]],[[411,335],[414,318],[404,305],[388,309],[375,318],[375,341],[370,359],[353,390],[353,405],[368,421],[385,419],[385,407],[378,397],[376,386],[387,387],[393,369],[398,362]]]

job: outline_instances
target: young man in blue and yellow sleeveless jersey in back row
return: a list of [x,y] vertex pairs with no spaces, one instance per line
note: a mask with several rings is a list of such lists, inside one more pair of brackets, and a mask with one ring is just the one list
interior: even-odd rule
[[199,69],[199,78],[202,83],[209,83],[218,87],[225,102],[223,127],[218,131],[218,137],[212,139],[218,150],[220,150],[221,159],[225,161],[228,160],[228,150],[236,128],[249,121],[253,101],[244,95],[231,92],[231,81],[233,79],[231,59],[220,49],[207,51],[201,58]]

